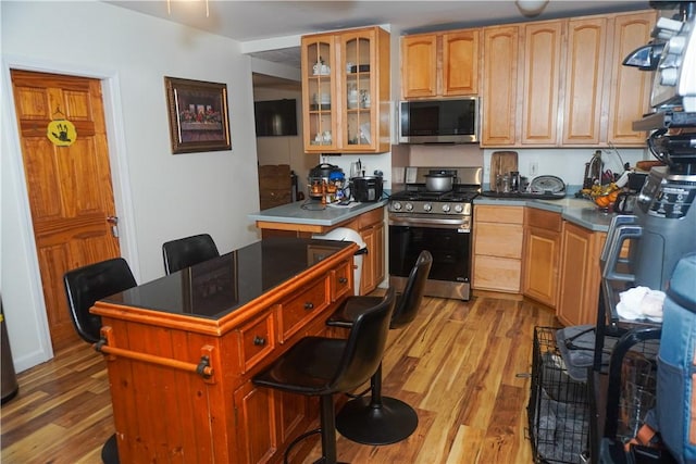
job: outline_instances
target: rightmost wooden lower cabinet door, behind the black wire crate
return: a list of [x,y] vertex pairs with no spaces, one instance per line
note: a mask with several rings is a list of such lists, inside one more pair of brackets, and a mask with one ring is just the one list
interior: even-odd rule
[[606,238],[605,233],[563,223],[556,315],[568,326],[597,322],[601,280],[599,255]]

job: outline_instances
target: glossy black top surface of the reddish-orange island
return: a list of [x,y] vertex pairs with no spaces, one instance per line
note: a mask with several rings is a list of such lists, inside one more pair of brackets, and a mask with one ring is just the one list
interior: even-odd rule
[[350,246],[353,242],[264,239],[102,301],[219,319]]

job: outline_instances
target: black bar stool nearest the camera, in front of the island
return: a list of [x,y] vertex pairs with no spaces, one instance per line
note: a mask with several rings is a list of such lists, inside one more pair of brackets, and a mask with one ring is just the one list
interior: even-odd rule
[[[258,386],[320,397],[322,457],[318,463],[336,463],[334,393],[350,391],[377,372],[386,349],[395,301],[395,290],[389,288],[374,306],[357,316],[347,339],[306,337],[253,377]],[[311,434],[307,432],[298,440]],[[289,450],[298,440],[286,449],[286,462]]]

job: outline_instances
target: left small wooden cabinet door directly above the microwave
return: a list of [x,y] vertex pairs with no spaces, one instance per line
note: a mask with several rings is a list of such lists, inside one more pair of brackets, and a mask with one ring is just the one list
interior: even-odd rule
[[401,37],[401,93],[405,99],[437,95],[437,35]]

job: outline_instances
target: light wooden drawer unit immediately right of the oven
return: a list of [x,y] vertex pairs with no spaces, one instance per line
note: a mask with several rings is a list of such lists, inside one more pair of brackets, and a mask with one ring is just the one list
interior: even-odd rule
[[523,224],[523,206],[474,205],[474,289],[520,293]]

